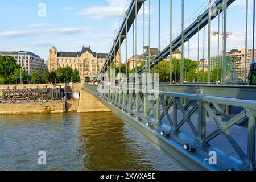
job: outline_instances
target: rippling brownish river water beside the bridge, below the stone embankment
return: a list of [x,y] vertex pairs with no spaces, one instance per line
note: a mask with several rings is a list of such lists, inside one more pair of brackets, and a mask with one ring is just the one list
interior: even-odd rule
[[180,169],[113,113],[1,115],[0,138],[1,170]]

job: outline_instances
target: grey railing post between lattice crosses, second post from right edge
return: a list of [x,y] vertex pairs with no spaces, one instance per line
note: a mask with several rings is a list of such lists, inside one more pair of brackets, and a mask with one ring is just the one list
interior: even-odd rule
[[207,146],[207,143],[204,142],[206,135],[206,111],[204,109],[204,102],[198,101],[198,136],[196,137],[195,142],[200,146]]

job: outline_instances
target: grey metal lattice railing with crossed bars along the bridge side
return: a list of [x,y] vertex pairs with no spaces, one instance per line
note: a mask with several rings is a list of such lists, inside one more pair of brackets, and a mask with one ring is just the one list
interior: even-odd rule
[[[255,169],[255,100],[212,97],[203,90],[199,94],[186,94],[125,86],[85,85],[85,88],[162,135],[176,136],[177,142],[191,152],[197,150],[207,156],[211,147],[218,148],[233,163],[238,160],[236,169]],[[241,111],[228,115],[225,105],[239,107]],[[236,125],[242,120],[247,120],[247,129]],[[242,140],[238,127],[242,129]],[[182,138],[180,133],[189,137]],[[218,146],[219,143],[225,144]],[[218,163],[229,169],[230,161]]]

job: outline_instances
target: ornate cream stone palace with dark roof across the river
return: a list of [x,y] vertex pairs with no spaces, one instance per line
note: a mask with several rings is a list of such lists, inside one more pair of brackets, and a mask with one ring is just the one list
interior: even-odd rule
[[[82,47],[80,52],[58,52],[53,46],[49,49],[48,69],[56,71],[60,67],[69,66],[77,69],[81,81],[89,82],[92,78],[97,78],[103,65],[105,64],[108,53],[92,52],[90,47]],[[116,66],[121,63],[121,54],[117,52]],[[115,60],[114,60],[115,61]]]

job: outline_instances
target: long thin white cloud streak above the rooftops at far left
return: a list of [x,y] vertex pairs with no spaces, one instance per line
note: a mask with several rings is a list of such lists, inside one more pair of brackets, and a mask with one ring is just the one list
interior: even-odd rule
[[16,30],[0,32],[0,37],[38,36],[55,34],[74,34],[92,30],[90,27],[83,28],[52,28],[46,30]]

